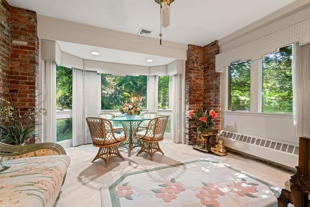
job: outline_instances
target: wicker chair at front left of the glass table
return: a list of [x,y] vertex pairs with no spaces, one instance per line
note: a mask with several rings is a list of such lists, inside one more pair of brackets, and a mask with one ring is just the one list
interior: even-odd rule
[[[87,117],[86,121],[91,133],[93,146],[99,147],[98,153],[93,161],[99,158],[103,159],[106,163],[106,167],[108,167],[109,161],[113,158],[121,158],[124,160],[118,150],[118,144],[123,143],[127,137],[124,128],[121,128],[124,133],[114,133],[115,128],[113,128],[112,123],[108,119]],[[118,130],[119,129],[118,127]]]

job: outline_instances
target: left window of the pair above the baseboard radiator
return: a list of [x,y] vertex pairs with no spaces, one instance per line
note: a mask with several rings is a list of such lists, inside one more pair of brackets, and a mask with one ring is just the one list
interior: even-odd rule
[[250,110],[250,61],[230,65],[230,110]]

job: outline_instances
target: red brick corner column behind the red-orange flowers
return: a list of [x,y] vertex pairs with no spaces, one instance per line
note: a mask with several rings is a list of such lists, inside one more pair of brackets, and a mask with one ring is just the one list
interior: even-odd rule
[[217,112],[216,127],[219,128],[220,116],[220,74],[215,73],[215,55],[219,47],[214,41],[204,47],[188,45],[186,60],[186,123],[185,142],[195,144],[195,121],[188,118],[188,111],[214,109]]

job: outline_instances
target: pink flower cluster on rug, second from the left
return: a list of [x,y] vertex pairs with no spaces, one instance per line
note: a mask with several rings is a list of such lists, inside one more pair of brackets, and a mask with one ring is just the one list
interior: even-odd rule
[[174,178],[172,178],[170,181],[167,181],[165,184],[158,185],[163,188],[154,189],[151,190],[155,192],[155,196],[157,198],[162,198],[166,203],[171,202],[171,200],[176,199],[177,195],[182,191],[186,191],[186,189],[183,187],[183,183],[176,182]]

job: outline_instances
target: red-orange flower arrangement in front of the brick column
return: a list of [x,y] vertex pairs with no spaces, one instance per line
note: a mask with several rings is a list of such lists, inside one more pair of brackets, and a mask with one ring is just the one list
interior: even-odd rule
[[197,128],[197,133],[201,134],[215,134],[215,119],[217,118],[217,113],[211,109],[211,110],[205,110],[203,109],[198,110],[198,113],[194,113],[194,110],[190,110],[188,113],[188,117],[191,119],[195,119],[196,122],[200,124],[200,126]]

